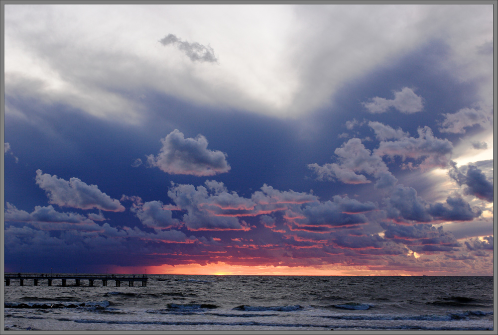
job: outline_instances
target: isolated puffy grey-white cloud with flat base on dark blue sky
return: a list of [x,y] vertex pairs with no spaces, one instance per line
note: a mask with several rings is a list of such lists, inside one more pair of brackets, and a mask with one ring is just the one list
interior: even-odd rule
[[178,129],[161,139],[157,156],[147,156],[147,162],[169,174],[214,176],[230,171],[227,154],[207,149],[208,140],[202,135],[185,138]]

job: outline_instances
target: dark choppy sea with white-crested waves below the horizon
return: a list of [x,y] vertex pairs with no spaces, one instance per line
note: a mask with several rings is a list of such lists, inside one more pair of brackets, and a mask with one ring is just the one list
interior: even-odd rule
[[493,331],[493,277],[148,275],[11,280],[4,331]]

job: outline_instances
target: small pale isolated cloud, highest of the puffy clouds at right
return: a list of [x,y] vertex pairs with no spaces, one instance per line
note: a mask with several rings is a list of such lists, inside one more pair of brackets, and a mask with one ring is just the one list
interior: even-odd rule
[[393,107],[399,112],[411,114],[420,112],[424,108],[422,97],[419,97],[412,89],[403,87],[399,92],[394,92],[394,99],[375,97],[370,102],[363,103],[363,106],[371,113],[387,112]]

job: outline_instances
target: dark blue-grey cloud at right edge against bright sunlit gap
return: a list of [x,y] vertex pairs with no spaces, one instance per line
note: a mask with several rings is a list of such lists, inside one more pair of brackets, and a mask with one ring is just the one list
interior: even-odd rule
[[[493,202],[493,182],[486,178],[486,175],[481,169],[474,165],[467,165],[459,169],[453,161],[450,162],[450,165],[451,167],[448,172],[449,176],[454,179],[458,185],[467,186],[464,189],[465,194],[473,195],[490,203]],[[462,172],[465,170],[467,170],[466,174]]]

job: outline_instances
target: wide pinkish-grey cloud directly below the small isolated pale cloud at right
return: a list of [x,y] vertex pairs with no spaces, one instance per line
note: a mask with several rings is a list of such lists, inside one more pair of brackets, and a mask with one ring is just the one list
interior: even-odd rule
[[453,144],[435,137],[428,126],[418,128],[417,132],[418,138],[405,136],[395,141],[382,141],[374,153],[391,158],[400,156],[403,161],[406,158],[422,159],[418,165],[422,168],[446,167]]

